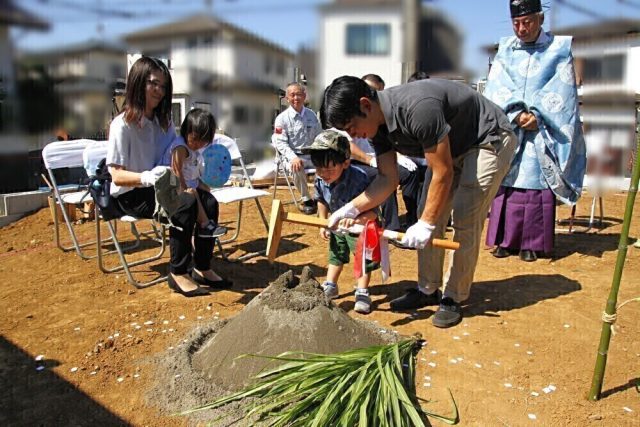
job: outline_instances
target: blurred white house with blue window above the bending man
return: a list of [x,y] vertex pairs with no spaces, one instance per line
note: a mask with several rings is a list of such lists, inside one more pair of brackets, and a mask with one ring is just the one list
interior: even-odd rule
[[341,75],[379,74],[387,86],[416,70],[459,74],[462,36],[419,0],[335,0],[320,7],[320,86]]

